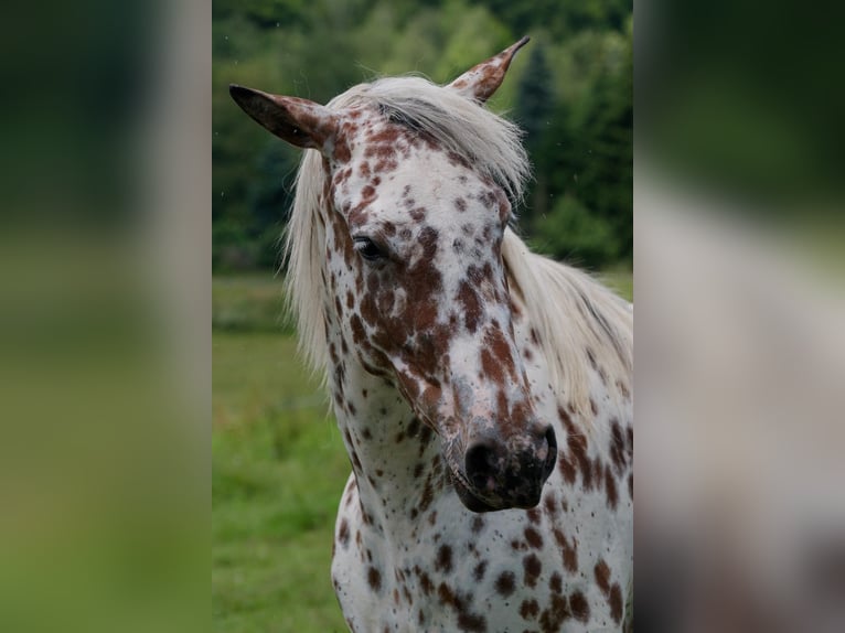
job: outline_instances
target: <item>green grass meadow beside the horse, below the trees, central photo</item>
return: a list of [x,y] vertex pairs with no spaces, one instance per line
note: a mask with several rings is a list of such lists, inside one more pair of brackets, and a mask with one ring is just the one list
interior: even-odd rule
[[[601,278],[632,296],[628,271]],[[212,618],[225,632],[344,632],[329,567],[349,459],[281,321],[281,279],[212,292]]]

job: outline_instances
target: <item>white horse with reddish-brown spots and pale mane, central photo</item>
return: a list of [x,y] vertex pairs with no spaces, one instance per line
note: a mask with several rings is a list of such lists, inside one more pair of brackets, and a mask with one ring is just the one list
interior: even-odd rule
[[526,42],[325,106],[229,87],[304,149],[287,296],[352,466],[331,576],[353,632],[632,623],[632,309],[514,229],[528,159],[485,101]]

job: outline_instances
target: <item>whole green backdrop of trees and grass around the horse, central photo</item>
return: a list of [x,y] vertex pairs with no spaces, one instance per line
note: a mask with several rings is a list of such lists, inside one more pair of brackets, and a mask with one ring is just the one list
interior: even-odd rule
[[530,35],[490,104],[526,132],[535,178],[520,230],[630,299],[631,11],[624,0],[215,0],[215,630],[346,630],[330,560],[349,459],[284,319],[278,242],[301,152],[249,120],[228,84],[325,103],[376,75],[445,83]]

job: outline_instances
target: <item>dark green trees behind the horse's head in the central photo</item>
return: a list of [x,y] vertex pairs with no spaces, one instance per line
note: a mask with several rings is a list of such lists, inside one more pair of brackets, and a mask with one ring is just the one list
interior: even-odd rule
[[278,266],[301,155],[229,83],[325,103],[376,75],[449,82],[522,35],[490,104],[525,130],[534,164],[520,228],[556,258],[630,268],[632,33],[630,0],[215,0],[213,270]]

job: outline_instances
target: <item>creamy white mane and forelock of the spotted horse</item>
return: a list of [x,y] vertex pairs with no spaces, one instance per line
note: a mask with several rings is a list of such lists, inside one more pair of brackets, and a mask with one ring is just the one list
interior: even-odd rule
[[[397,120],[431,135],[440,147],[492,178],[514,201],[522,197],[530,164],[521,131],[511,121],[420,77],[361,84],[328,107],[366,105],[379,106]],[[299,329],[300,350],[323,376],[329,364],[322,298],[325,246],[318,208],[325,179],[321,154],[306,150],[285,239],[287,299]],[[630,389],[633,326],[625,303],[586,275],[528,253],[510,229],[502,255],[539,335],[553,384],[560,386],[573,408],[589,410],[590,354],[608,373],[611,389],[617,382]]]

